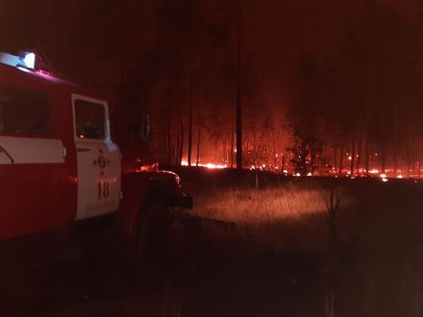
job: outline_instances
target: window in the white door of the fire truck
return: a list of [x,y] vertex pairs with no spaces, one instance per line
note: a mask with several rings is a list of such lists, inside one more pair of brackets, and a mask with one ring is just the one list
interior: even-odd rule
[[75,124],[78,138],[105,138],[105,107],[87,100],[75,100]]

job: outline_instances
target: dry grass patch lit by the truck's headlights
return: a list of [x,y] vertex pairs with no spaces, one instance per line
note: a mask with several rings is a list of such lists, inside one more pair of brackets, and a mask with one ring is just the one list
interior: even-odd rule
[[[353,198],[342,196],[341,208]],[[224,236],[253,251],[298,251],[325,248],[326,200],[330,190],[289,185],[273,189],[214,189],[195,197],[194,215],[235,223],[234,232],[213,227],[208,232]],[[342,211],[341,211],[342,212]],[[211,231],[209,228],[209,231]],[[245,248],[243,248],[245,249]]]

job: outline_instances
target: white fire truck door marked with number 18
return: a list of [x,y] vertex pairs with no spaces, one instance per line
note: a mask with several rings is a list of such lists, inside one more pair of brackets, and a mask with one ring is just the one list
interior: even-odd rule
[[119,148],[110,139],[108,103],[72,95],[77,147],[77,220],[118,210]]

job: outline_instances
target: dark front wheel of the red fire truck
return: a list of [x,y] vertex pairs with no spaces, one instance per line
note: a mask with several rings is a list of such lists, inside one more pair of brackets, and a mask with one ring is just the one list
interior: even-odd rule
[[169,211],[160,202],[152,202],[139,212],[138,254],[141,261],[163,261],[168,252]]

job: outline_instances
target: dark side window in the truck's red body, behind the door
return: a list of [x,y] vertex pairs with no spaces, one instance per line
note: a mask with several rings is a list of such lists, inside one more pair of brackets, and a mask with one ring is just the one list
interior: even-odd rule
[[0,133],[46,136],[52,130],[45,93],[0,85]]

